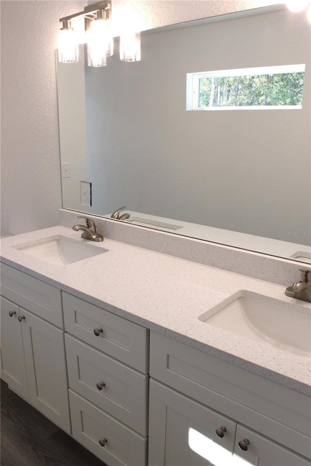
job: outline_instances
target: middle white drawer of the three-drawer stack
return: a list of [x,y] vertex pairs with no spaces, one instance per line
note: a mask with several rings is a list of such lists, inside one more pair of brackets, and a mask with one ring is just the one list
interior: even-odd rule
[[148,376],[68,334],[65,343],[70,388],[147,435]]

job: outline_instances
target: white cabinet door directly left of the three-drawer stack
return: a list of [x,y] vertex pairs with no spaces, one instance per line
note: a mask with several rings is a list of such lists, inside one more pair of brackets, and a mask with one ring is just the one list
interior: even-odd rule
[[20,308],[29,399],[70,433],[64,332]]

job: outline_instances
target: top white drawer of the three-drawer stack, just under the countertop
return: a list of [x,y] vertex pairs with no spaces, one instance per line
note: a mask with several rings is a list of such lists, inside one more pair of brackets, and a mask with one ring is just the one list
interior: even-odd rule
[[[148,331],[122,317],[63,292],[65,329],[98,350],[148,372]],[[94,329],[101,329],[98,336]]]

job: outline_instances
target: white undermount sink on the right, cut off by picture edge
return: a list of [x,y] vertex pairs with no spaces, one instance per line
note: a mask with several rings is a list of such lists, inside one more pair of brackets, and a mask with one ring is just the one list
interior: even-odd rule
[[275,349],[311,357],[311,309],[241,291],[199,320]]

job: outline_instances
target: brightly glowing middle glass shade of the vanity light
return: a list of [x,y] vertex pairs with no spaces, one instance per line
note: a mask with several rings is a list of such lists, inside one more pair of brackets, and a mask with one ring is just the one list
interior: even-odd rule
[[106,57],[113,55],[113,38],[110,35],[108,19],[96,18],[87,31],[87,65],[105,67]]

